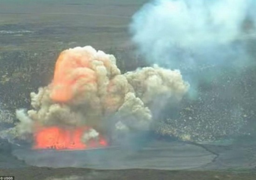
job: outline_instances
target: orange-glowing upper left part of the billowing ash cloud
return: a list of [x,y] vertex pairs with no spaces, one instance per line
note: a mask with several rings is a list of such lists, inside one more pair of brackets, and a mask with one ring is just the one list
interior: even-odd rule
[[95,83],[96,74],[89,68],[91,60],[85,51],[63,51],[55,64],[51,99],[67,102],[72,100],[76,93],[83,91],[83,85]]

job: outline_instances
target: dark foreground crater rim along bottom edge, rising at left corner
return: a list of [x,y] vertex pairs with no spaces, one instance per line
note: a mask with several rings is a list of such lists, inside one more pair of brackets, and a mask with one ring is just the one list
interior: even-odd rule
[[[15,180],[255,180],[254,169],[228,170],[96,170],[88,168],[33,167],[11,155],[12,146],[0,143],[0,175],[15,176]],[[222,149],[223,150],[223,149]]]

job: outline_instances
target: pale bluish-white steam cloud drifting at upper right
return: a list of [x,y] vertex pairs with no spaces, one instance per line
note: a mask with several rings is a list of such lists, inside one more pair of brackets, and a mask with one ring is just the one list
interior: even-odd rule
[[159,65],[237,65],[248,59],[244,40],[255,37],[255,8],[254,0],[153,0],[135,13],[130,31]]

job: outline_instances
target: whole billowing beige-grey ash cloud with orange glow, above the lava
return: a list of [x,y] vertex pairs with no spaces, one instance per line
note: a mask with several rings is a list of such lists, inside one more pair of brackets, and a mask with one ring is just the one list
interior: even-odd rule
[[155,65],[121,74],[113,55],[75,47],[60,54],[52,83],[31,93],[33,109],[17,111],[16,129],[21,135],[36,133],[38,127],[54,131],[86,126],[83,141],[109,129],[148,130],[150,104],[159,96],[180,100],[188,87],[178,70]]

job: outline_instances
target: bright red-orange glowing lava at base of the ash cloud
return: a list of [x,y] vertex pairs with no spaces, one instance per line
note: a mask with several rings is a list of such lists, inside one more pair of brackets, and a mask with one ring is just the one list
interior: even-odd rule
[[99,137],[89,140],[87,144],[81,141],[83,133],[88,127],[64,129],[60,127],[43,127],[34,134],[34,149],[86,149],[107,146],[107,141]]

